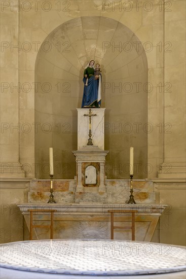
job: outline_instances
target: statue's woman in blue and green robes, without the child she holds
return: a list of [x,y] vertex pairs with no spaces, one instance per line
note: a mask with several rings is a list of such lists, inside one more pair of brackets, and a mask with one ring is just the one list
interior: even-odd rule
[[94,60],[90,60],[84,71],[82,108],[101,107],[101,74],[94,75]]

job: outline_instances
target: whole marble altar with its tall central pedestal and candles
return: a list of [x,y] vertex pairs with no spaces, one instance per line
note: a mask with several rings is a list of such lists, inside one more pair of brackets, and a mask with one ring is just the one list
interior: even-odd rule
[[[122,211],[136,210],[135,239],[152,241],[166,204],[158,204],[151,180],[133,179],[134,148],[130,148],[129,179],[107,179],[105,160],[109,151],[104,150],[105,109],[84,108],[77,112],[78,150],[72,151],[76,157],[77,176],[73,180],[54,179],[53,149],[50,148],[51,180],[30,181],[28,203],[18,204],[27,228],[30,223],[28,210],[53,209],[57,210],[54,213],[54,238],[110,239],[108,211],[119,210],[115,216],[117,226],[130,226],[130,214]],[[34,214],[34,222],[40,226],[48,225],[49,221],[50,216],[45,212]],[[47,239],[49,233],[49,229],[35,228],[33,237]],[[117,230],[115,239],[130,240],[130,229]]]

